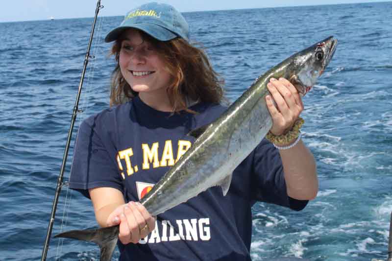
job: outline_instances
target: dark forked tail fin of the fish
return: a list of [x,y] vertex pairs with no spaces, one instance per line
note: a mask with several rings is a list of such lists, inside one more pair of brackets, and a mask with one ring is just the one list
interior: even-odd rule
[[100,261],[110,261],[116,248],[119,231],[120,228],[117,225],[99,229],[72,230],[57,234],[54,237],[68,237],[94,242],[100,248]]

